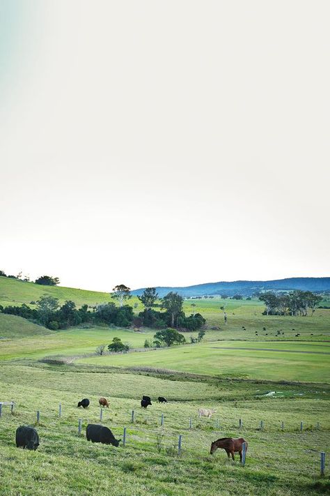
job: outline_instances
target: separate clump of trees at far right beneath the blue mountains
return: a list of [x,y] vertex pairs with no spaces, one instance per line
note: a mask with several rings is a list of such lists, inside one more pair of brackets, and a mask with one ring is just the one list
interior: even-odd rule
[[266,292],[260,294],[266,308],[262,315],[302,315],[306,317],[308,310],[311,315],[322,301],[322,296],[311,291],[295,290],[285,294]]

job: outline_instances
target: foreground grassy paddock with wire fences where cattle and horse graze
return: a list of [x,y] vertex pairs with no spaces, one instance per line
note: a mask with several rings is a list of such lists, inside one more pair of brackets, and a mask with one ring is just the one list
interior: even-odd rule
[[[329,386],[272,384],[281,397],[269,396],[269,384],[245,381],[180,381],[137,374],[104,373],[97,367],[74,372],[68,367],[0,365],[3,398],[15,398],[0,419],[3,495],[317,495],[329,490],[320,478],[320,450],[329,452]],[[320,395],[320,393],[322,393]],[[166,405],[139,406],[142,394],[164,395]],[[268,396],[267,396],[268,395]],[[100,396],[110,399],[102,423],[127,444],[118,448],[88,443],[86,424],[100,423]],[[88,409],[77,401],[91,400]],[[58,416],[61,403],[62,416]],[[216,409],[214,418],[198,419],[197,409]],[[15,446],[15,429],[36,424],[38,451]],[[132,409],[135,422],[132,423]],[[160,426],[164,414],[164,426]],[[189,417],[192,428],[189,429]],[[78,436],[78,421],[82,433]],[[239,419],[243,426],[239,429]],[[264,428],[260,430],[260,421]],[[281,422],[284,422],[282,431]],[[300,432],[300,422],[303,430]],[[218,427],[217,427],[218,422]],[[317,422],[319,423],[317,426]],[[182,453],[178,454],[178,436]],[[243,436],[249,442],[246,465],[228,461],[210,444],[219,437]],[[299,478],[297,479],[297,467]],[[102,481],[102,484],[100,483]],[[219,484],[221,492],[219,493]]]

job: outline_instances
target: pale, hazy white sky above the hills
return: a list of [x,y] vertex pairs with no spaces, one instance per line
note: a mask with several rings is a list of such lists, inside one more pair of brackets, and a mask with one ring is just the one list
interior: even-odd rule
[[330,3],[0,0],[0,269],[330,276]]

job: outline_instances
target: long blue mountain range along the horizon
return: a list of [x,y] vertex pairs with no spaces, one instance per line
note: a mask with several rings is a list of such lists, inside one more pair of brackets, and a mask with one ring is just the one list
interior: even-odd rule
[[[132,291],[132,294],[141,294],[146,288]],[[235,280],[233,282],[222,281],[219,283],[197,284],[186,287],[162,287],[156,288],[159,297],[162,298],[170,291],[177,292],[181,296],[215,296],[219,294],[242,294],[251,296],[256,291],[290,291],[302,290],[313,292],[330,292],[330,277],[293,277],[277,280]]]

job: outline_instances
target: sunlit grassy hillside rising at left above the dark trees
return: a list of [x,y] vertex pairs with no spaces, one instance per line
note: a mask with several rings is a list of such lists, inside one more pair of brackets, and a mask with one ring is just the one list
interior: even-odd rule
[[21,280],[0,277],[0,305],[20,305],[37,301],[42,294],[58,298],[60,303],[72,300],[77,306],[96,305],[109,301],[109,293],[78,290],[72,287],[42,286],[34,283],[24,283]]

